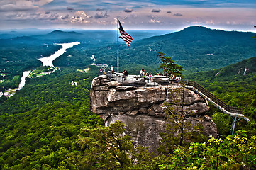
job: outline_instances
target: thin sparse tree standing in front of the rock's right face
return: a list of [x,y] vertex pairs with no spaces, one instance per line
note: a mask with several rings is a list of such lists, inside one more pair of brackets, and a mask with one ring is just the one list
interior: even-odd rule
[[204,142],[204,127],[202,125],[191,125],[187,115],[193,113],[184,108],[185,88],[172,89],[169,91],[170,101],[165,102],[166,129],[161,134],[158,152],[169,154],[178,147],[189,146],[190,142]]

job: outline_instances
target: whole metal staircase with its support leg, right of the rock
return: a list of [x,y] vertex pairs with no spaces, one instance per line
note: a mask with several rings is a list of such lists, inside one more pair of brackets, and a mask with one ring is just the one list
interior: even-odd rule
[[230,115],[230,117],[233,119],[233,123],[230,129],[231,134],[234,134],[235,131],[235,123],[243,118],[246,121],[250,121],[250,119],[246,118],[245,115],[243,115],[242,108],[232,107],[226,105],[223,101],[221,101],[219,98],[211,94],[208,90],[204,89],[200,84],[196,83],[196,81],[187,81],[186,82],[187,89],[191,89],[195,91],[200,96],[206,98],[207,101],[213,103],[214,106],[216,106],[218,109],[226,113],[227,115]]

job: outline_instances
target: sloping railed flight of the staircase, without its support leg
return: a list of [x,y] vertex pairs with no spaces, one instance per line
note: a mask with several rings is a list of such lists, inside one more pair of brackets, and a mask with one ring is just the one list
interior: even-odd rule
[[203,94],[206,99],[210,99],[208,101],[211,101],[214,105],[221,107],[225,113],[231,116],[237,116],[238,118],[244,118],[246,121],[249,121],[248,118],[246,118],[243,115],[243,109],[234,107],[234,106],[228,106],[226,103],[221,101],[221,99],[217,98],[213,94],[211,94],[208,90],[206,90],[203,86],[196,83],[196,81],[187,81],[187,88],[191,87],[191,89],[194,89],[195,91],[198,91],[199,93]]

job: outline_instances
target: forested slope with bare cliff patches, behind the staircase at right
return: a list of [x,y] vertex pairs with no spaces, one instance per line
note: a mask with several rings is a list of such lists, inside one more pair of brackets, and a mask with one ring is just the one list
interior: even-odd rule
[[[252,57],[237,64],[231,64],[221,69],[208,72],[188,74],[187,79],[194,80],[204,86],[208,91],[221,98],[229,106],[243,108],[245,116],[250,122],[238,121],[237,129],[248,130],[251,135],[256,134],[256,57]],[[214,112],[214,111],[213,111]],[[230,118],[217,113],[215,122],[220,123],[219,133],[228,135]]]

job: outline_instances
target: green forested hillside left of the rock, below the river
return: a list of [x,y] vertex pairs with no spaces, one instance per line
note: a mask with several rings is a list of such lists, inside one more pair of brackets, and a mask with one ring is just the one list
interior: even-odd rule
[[94,67],[90,73],[63,68],[27,79],[21,91],[1,103],[1,169],[57,169],[63,161],[69,164],[68,159],[79,152],[80,128],[103,125],[89,111],[89,89],[95,76]]

